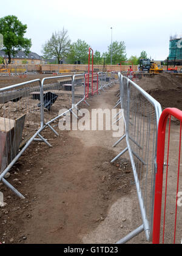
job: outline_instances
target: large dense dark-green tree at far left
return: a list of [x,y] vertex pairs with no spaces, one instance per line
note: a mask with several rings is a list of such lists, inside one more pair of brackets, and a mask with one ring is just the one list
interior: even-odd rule
[[3,35],[3,50],[8,55],[8,64],[11,63],[11,55],[15,56],[18,50],[24,50],[25,54],[29,54],[32,46],[31,40],[24,37],[27,25],[14,15],[8,15],[0,19],[0,33]]

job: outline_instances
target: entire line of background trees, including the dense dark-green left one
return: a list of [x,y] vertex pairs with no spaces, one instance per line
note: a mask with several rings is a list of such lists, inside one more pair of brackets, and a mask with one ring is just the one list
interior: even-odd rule
[[[2,49],[8,55],[8,64],[12,61],[11,56],[15,56],[18,50],[24,50],[25,54],[29,54],[32,41],[30,38],[25,38],[26,30],[27,25],[22,24],[14,15],[0,18],[0,33],[4,37],[4,46]],[[55,63],[62,63],[66,59],[66,62],[70,64],[87,64],[89,47],[90,45],[81,39],[72,43],[68,31],[63,27],[62,30],[52,33],[51,38],[42,45],[42,55],[45,60],[56,58]],[[110,64],[111,55],[112,64],[135,65],[139,64],[140,58],[147,58],[147,54],[143,50],[140,57],[131,56],[127,59],[124,41],[114,41],[103,54],[95,50],[93,64]],[[0,63],[2,61],[0,59]]]

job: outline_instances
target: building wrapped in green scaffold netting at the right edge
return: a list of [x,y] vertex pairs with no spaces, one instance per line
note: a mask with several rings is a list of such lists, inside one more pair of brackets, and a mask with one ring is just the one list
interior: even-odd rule
[[182,35],[170,36],[169,64],[182,65]]

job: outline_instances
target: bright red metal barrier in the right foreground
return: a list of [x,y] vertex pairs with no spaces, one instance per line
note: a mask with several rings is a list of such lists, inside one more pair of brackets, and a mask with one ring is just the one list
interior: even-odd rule
[[[179,140],[171,140],[171,143],[177,143],[177,151],[178,154],[175,154],[177,156],[177,159],[172,159],[174,161],[174,166],[170,167],[170,161],[169,161],[169,154],[170,152],[170,137],[174,136],[174,133],[170,132],[171,130],[171,117],[175,117],[175,119],[178,119],[180,121],[180,132],[179,132]],[[166,144],[166,152],[165,150],[165,137],[166,137],[166,125],[169,120],[169,126],[168,126],[168,142]],[[181,155],[181,122],[182,122],[182,111],[177,108],[166,108],[161,114],[160,121],[158,123],[158,143],[157,143],[157,173],[155,176],[155,200],[154,200],[154,211],[153,211],[153,243],[158,244],[160,243],[160,237],[162,237],[162,243],[164,243],[164,238],[169,241],[172,239],[172,241],[175,243],[176,240],[176,232],[177,232],[177,213],[179,215],[178,209],[178,190],[179,190],[179,178],[180,178],[180,155]],[[175,132],[176,133],[176,132]],[[174,156],[173,152],[173,156]],[[167,156],[167,163],[166,163],[166,175],[164,176],[164,155]],[[170,158],[172,158],[170,156]],[[176,191],[174,194],[174,190],[167,190],[167,185],[171,186],[169,183],[169,176],[170,171],[175,170],[177,171],[177,179],[175,179],[175,186]],[[176,170],[177,169],[177,170]],[[163,187],[163,179],[166,179]],[[170,178],[171,179],[171,178]],[[173,178],[174,179],[174,178]],[[167,198],[168,194],[172,195],[172,200]],[[162,198],[162,195],[164,194],[164,197]],[[167,200],[168,199],[168,200]],[[162,203],[162,201],[164,201]],[[169,212],[167,206],[174,202],[174,207],[172,207],[174,212]],[[168,204],[167,204],[168,203]],[[162,208],[163,207],[163,208]],[[163,215],[161,215],[161,208],[163,210]],[[167,210],[166,210],[167,209]],[[169,207],[169,209],[171,209]],[[175,213],[173,215],[173,213]],[[180,212],[181,213],[181,212]],[[172,216],[174,216],[174,220],[172,220]],[[161,218],[163,218],[163,221],[161,221]],[[166,218],[168,218],[170,221],[170,225],[168,225],[169,233],[168,237],[165,236],[165,227],[166,227]],[[178,221],[180,221],[181,218],[179,218]],[[163,226],[163,228],[161,228]],[[182,238],[182,234],[180,234]],[[166,238],[167,237],[167,238]],[[179,238],[178,238],[179,240]]]

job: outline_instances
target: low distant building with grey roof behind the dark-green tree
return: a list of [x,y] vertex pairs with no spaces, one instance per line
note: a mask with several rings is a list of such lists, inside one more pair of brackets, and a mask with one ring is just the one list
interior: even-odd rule
[[[8,63],[8,55],[5,54],[4,50],[0,50],[0,57],[5,58]],[[35,52],[30,52],[25,55],[23,50],[19,50],[15,56],[11,55],[12,62],[11,64],[44,64],[42,57],[36,54]]]

